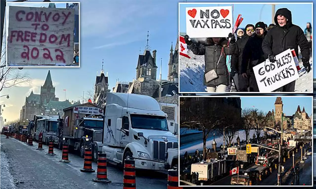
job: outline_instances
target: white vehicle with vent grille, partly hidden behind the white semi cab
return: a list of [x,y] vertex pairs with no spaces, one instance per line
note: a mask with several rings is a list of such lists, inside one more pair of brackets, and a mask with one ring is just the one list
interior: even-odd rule
[[178,105],[158,102],[160,109],[167,114],[168,128],[171,133],[178,135]]

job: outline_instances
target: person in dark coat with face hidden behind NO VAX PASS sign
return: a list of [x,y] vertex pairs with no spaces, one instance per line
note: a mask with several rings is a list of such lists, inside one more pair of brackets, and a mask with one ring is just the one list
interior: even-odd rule
[[[220,37],[208,38],[207,44],[201,47],[192,43],[188,35],[185,35],[184,39],[188,48],[194,54],[204,55],[204,85],[206,85],[207,92],[225,92],[229,84],[226,55],[230,55],[230,49],[227,46],[227,39]],[[231,43],[234,42],[235,38],[232,37]]]

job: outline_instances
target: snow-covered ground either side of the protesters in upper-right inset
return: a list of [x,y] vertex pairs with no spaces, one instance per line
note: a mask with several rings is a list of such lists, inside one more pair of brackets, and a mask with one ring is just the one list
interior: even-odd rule
[[[195,55],[191,50],[188,51],[189,56],[179,56],[180,66],[180,92],[206,92],[206,86],[203,84],[204,77],[204,56]],[[302,62],[300,62],[301,70],[300,78],[296,80],[295,92],[313,92],[313,59],[310,58],[311,71],[306,72]]]

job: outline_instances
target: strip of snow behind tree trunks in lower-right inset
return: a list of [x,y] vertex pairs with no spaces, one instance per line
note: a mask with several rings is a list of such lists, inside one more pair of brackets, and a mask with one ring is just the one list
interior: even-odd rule
[[[255,130],[250,130],[249,132],[249,136],[248,138],[252,139],[252,135],[255,133]],[[246,132],[244,130],[239,131],[235,133],[234,138],[233,138],[233,142],[236,143],[236,139],[239,135],[240,141],[242,140],[246,140]],[[260,136],[263,136],[264,132],[262,131],[260,133]],[[207,141],[206,141],[206,148],[212,148],[212,142],[213,142],[213,137],[208,137]],[[216,146],[221,146],[223,144],[223,136],[215,136],[215,142],[216,142]],[[181,143],[181,140],[180,140]],[[227,141],[225,140],[225,144],[227,145]],[[202,150],[203,149],[203,140],[199,140],[196,141],[194,143],[191,144],[186,144],[180,147],[180,154],[184,154],[185,152],[191,153],[191,152],[195,152],[196,150]]]

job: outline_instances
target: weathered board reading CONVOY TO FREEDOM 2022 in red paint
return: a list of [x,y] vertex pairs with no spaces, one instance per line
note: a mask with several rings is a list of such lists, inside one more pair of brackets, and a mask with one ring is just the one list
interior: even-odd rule
[[9,6],[8,66],[71,65],[74,11]]

